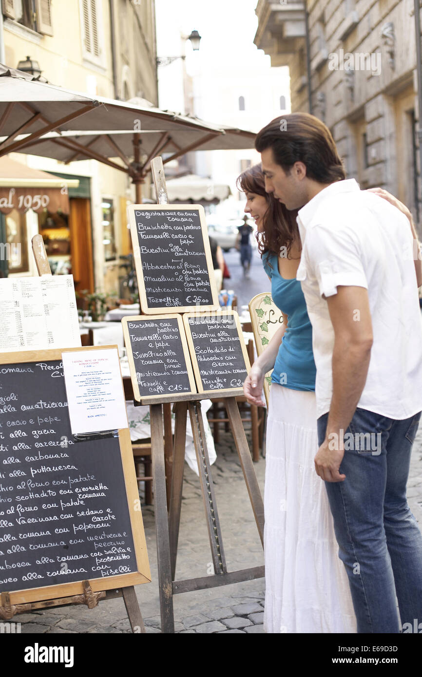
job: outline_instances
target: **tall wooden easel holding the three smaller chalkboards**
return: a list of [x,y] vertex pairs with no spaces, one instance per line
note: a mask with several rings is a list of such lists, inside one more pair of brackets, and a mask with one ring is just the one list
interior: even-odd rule
[[[158,204],[167,204],[167,188],[161,157],[154,158],[151,162],[151,167],[156,191],[156,201]],[[263,566],[251,567],[240,571],[229,572],[227,570],[201,411],[201,400],[209,399],[209,397],[209,394],[163,395],[159,403],[157,403],[156,397],[143,397],[140,402],[141,404],[148,404],[150,406],[152,476],[154,478],[154,510],[159,570],[161,632],[163,633],[174,632],[173,594],[255,580],[264,575]],[[221,395],[219,395],[219,397],[221,397]],[[169,403],[174,403],[175,435],[173,445],[173,471],[171,474],[171,496],[167,513],[163,410],[166,406],[169,406]],[[259,537],[263,544],[263,501],[261,492],[259,491],[255,470],[253,468],[251,452],[249,451],[245,430],[242,426],[236,397],[224,397],[224,403],[232,427],[236,450],[242,466],[249,499],[251,500]],[[189,412],[190,415],[194,436],[194,447],[196,460],[198,462],[199,477],[201,480],[203,504],[207,518],[214,575],[175,581],[180,511],[182,506],[187,412]]]

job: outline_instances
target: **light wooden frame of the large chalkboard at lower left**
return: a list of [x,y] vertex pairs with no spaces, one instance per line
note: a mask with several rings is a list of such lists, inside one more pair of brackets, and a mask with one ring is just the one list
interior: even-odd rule
[[[117,348],[117,346],[93,347],[93,349],[95,350],[110,348]],[[70,349],[70,351],[86,351],[87,349],[89,350],[89,347],[72,348]],[[43,365],[44,364],[46,365],[45,369],[43,368],[43,371],[45,371],[48,370],[49,368],[51,369],[48,363],[57,362],[62,359],[62,352],[64,351],[59,349],[51,349],[42,351],[20,351],[18,353],[3,353],[0,356],[0,365],[3,366],[4,368],[4,366],[12,364],[23,366],[24,364],[28,363],[41,363]],[[43,391],[42,397],[45,397],[45,395],[46,393]],[[123,397],[123,384],[122,384],[122,397]],[[67,408],[62,409],[62,411],[63,410],[66,410],[66,413],[68,414]],[[16,413],[13,414],[13,416],[14,417],[22,416],[22,414]],[[70,423],[68,425],[68,429],[70,431]],[[127,499],[127,509],[131,525],[131,534],[129,534],[129,536],[131,536],[133,540],[134,559],[138,571],[119,573],[117,575],[108,575],[98,578],[85,576],[84,578],[81,577],[81,580],[68,583],[59,583],[50,586],[39,586],[37,588],[19,588],[18,590],[8,590],[7,592],[9,592],[10,601],[13,605],[30,603],[40,600],[54,599],[62,596],[67,597],[77,594],[83,594],[84,592],[83,580],[89,580],[89,584],[93,592],[100,592],[102,590],[113,590],[114,588],[126,588],[128,586],[134,586],[141,583],[150,582],[151,580],[150,566],[148,563],[148,553],[146,550],[146,540],[144,534],[144,525],[142,522],[142,513],[140,511],[138,485],[136,483],[136,477],[133,468],[133,454],[129,428],[120,429],[118,431],[118,437],[119,437],[119,449],[121,452],[121,464],[122,464],[121,467],[123,469],[123,480]],[[85,442],[83,442],[83,444],[85,444]],[[4,467],[5,466],[0,465],[2,471]],[[13,469],[15,469],[15,466],[13,465],[8,467],[9,468],[12,467]],[[31,513],[28,514],[31,515]],[[30,527],[28,526],[24,528],[30,529]],[[0,546],[3,546],[3,544],[0,543]],[[4,552],[7,552],[7,545],[3,546],[3,548],[0,549],[2,549]],[[41,554],[42,555],[45,554],[44,550],[41,550]],[[41,556],[41,554],[39,556]],[[1,584],[0,584],[0,592],[3,592]]]

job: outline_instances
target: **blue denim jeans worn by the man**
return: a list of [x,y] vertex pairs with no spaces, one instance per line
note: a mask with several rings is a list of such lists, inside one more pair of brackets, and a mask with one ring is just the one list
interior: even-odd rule
[[[340,471],[346,478],[325,483],[358,632],[400,632],[396,595],[402,624],[422,621],[422,536],[406,500],[420,417],[394,420],[356,409],[348,439],[374,433],[379,443],[345,443]],[[318,419],[320,444],[327,418]]]

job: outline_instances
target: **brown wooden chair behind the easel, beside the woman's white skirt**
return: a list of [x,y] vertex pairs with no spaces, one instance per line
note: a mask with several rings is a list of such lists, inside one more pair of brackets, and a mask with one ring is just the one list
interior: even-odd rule
[[[249,356],[249,362],[251,363],[252,366],[254,360],[252,339],[250,339],[250,341],[247,344],[247,351]],[[212,397],[210,399],[211,402],[213,403],[213,408],[212,410],[210,410],[211,416],[209,416],[208,422],[213,423],[213,438],[214,442],[217,444],[219,441],[219,429],[218,429],[219,424],[224,423],[227,430],[229,419],[226,416],[224,408],[220,406],[221,403],[224,403],[224,399],[221,398],[214,399]],[[243,395],[239,395],[238,397],[236,397],[236,401],[239,406],[240,418],[242,419],[242,422],[251,423],[252,458],[254,462],[257,463],[259,461],[260,451],[262,448],[263,431],[265,429],[266,410],[263,407],[257,407],[254,404],[249,404],[246,397],[244,397]],[[219,415],[221,411],[224,411],[224,416]],[[245,414],[249,414],[249,416]]]

